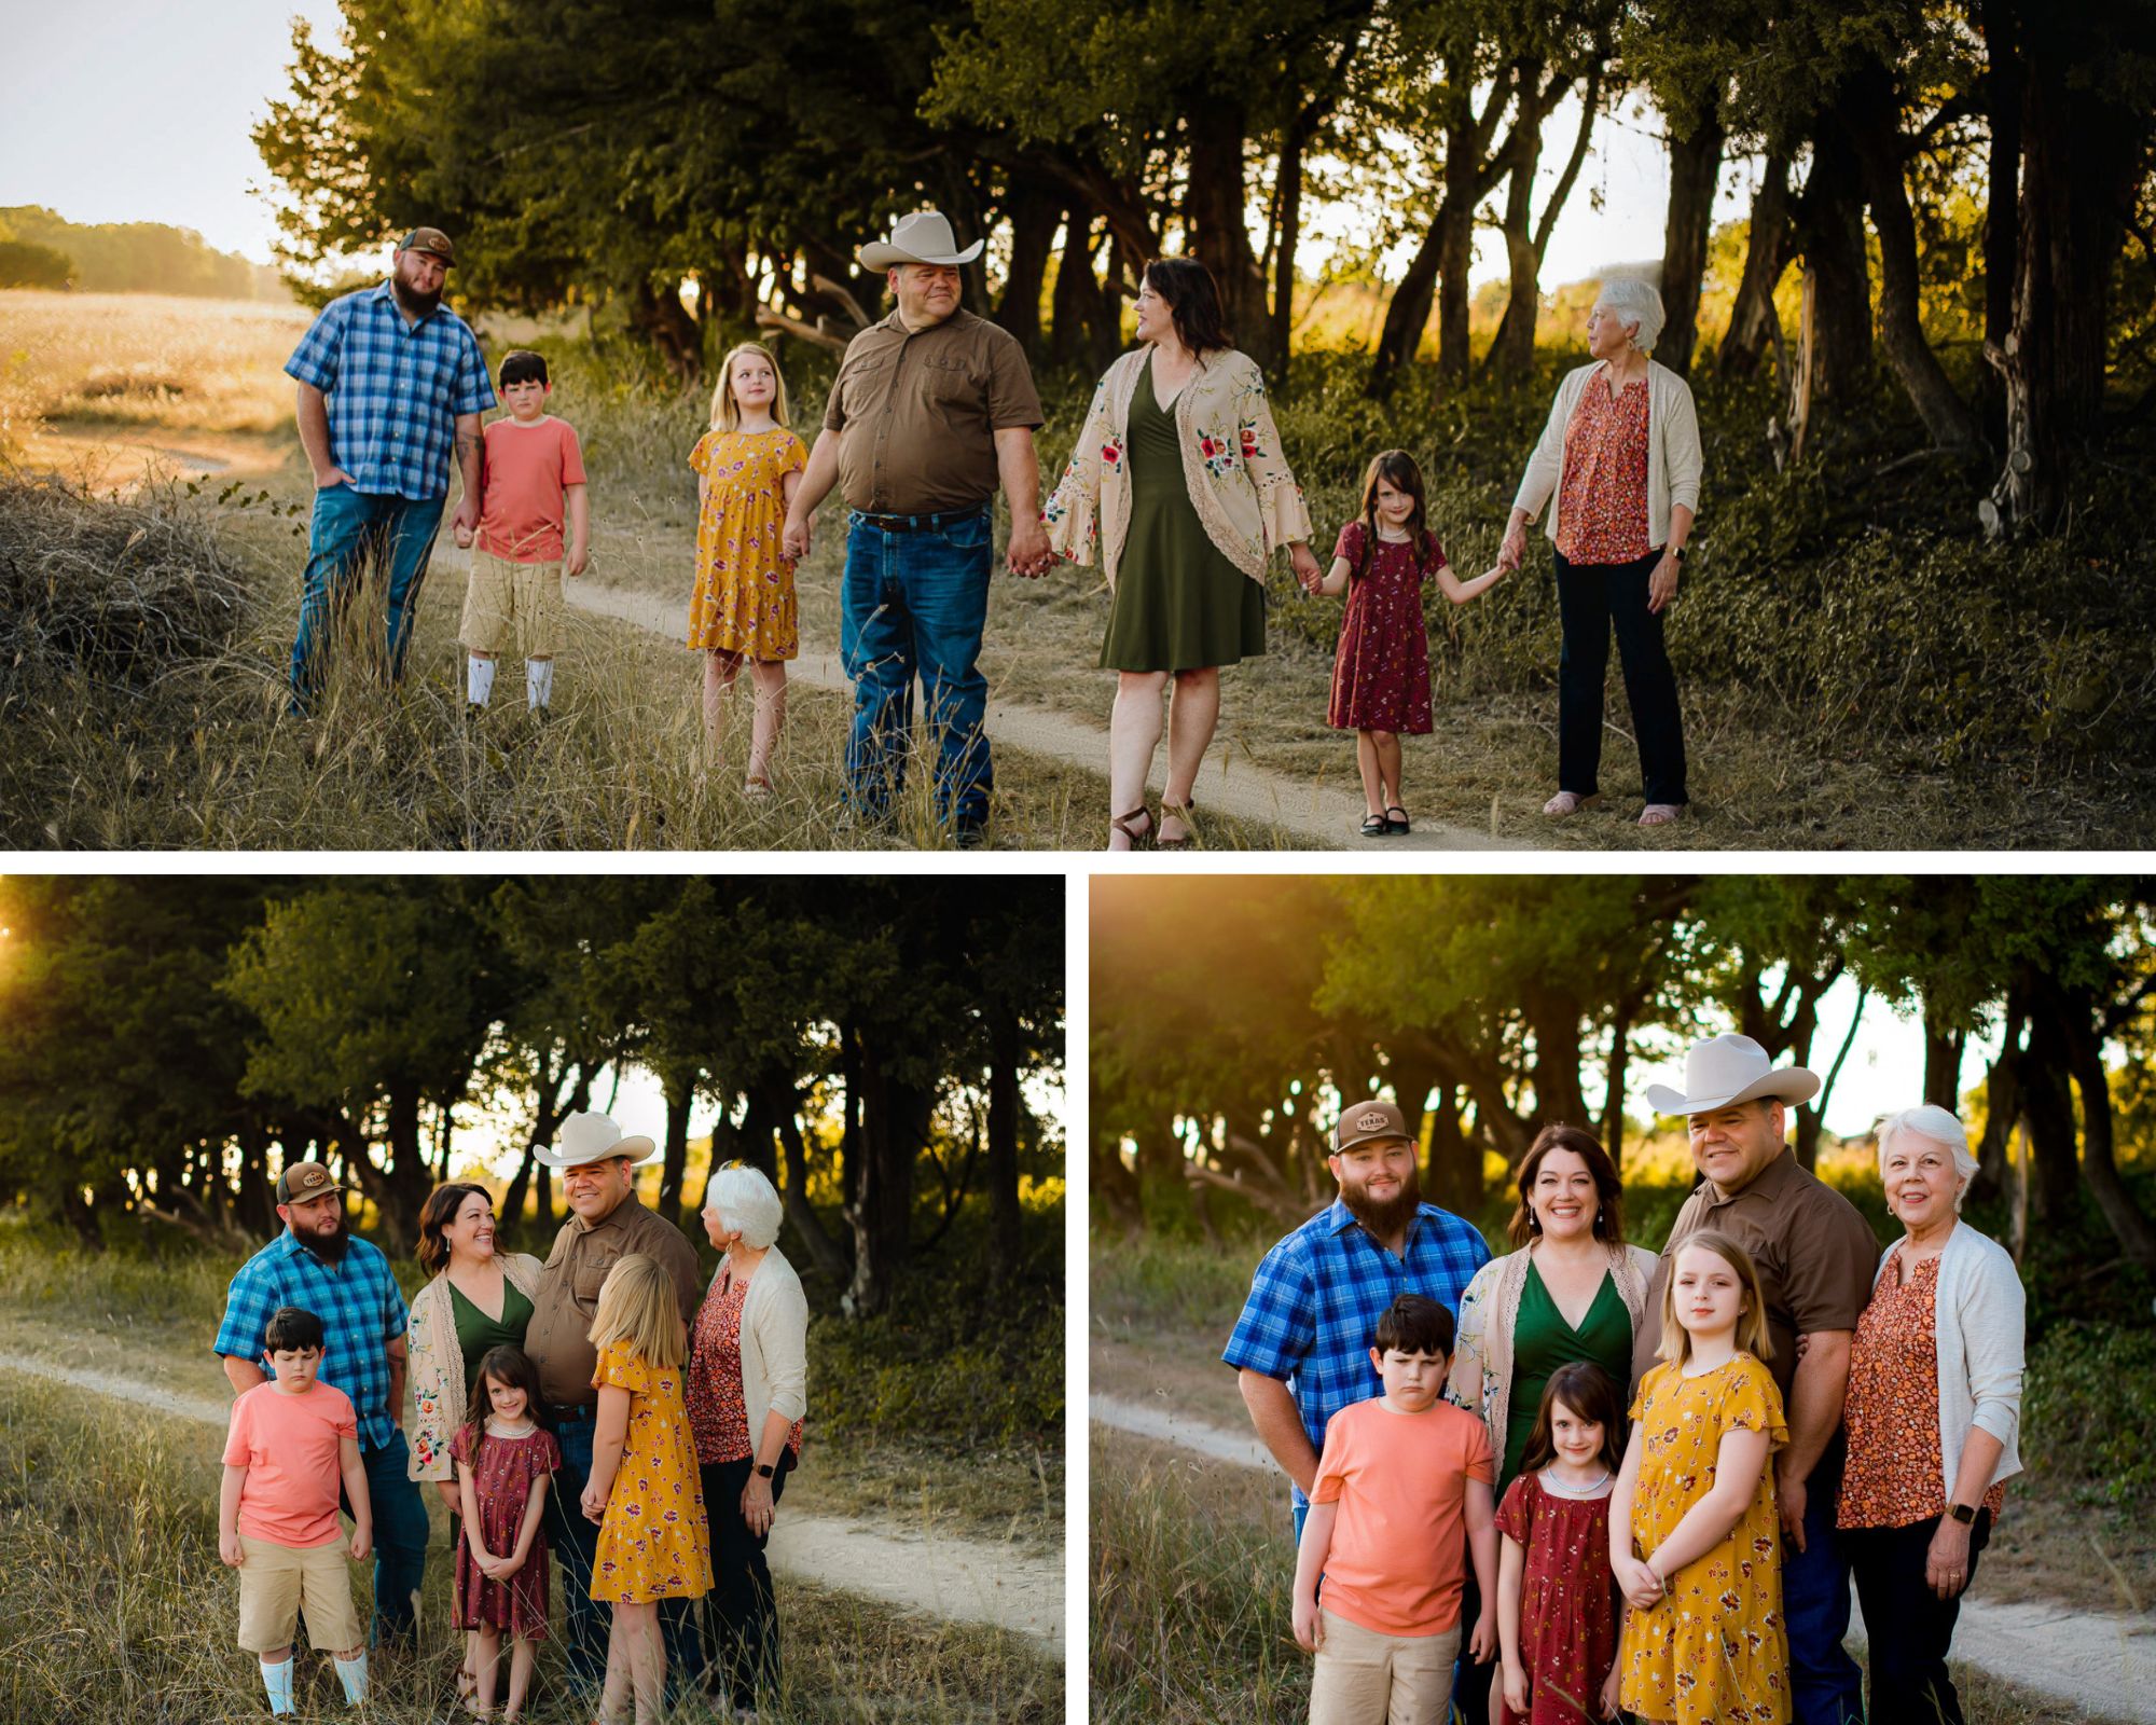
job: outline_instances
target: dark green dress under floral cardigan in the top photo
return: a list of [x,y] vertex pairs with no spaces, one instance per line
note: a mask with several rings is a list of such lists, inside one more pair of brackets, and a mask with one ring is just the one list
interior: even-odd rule
[[1162,408],[1153,395],[1151,356],[1138,367],[1123,446],[1130,530],[1115,565],[1102,668],[1199,671],[1255,660],[1266,651],[1266,586],[1205,535],[1184,479],[1175,405]]

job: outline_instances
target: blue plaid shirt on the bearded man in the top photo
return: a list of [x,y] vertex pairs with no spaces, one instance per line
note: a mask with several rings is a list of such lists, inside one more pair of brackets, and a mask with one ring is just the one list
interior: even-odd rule
[[330,459],[371,496],[448,496],[457,414],[494,405],[479,336],[448,306],[405,323],[390,285],[321,308],[285,371],[330,397]]

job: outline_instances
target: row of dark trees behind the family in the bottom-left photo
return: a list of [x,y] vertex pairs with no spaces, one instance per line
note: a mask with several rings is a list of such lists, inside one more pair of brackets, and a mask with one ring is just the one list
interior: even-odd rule
[[[789,1248],[888,1305],[972,1199],[1020,1261],[1020,1173],[1061,1171],[1028,1074],[1063,1059],[1061,882],[742,878],[13,878],[0,1195],[84,1242],[160,1220],[261,1240],[276,1169],[326,1158],[407,1248],[459,1110],[528,1145],[636,1065],[666,1095],[658,1208],[746,1158]],[[837,1126],[828,1130],[828,1121]],[[811,1190],[839,1197],[834,1231]],[[502,1199],[554,1220],[526,1156]]]

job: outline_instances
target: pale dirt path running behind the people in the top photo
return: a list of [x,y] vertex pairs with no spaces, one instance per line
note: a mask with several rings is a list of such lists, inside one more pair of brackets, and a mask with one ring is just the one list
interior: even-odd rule
[[[681,640],[688,627],[688,604],[660,599],[634,586],[606,586],[597,580],[567,582],[569,602],[602,617],[617,617],[653,634]],[[802,640],[802,656],[787,675],[811,688],[847,692],[852,686],[839,664],[839,653],[813,640]],[[1100,774],[1108,763],[1108,733],[1082,718],[1031,707],[1013,701],[987,703],[987,731],[998,744],[1022,748],[1065,765]],[[1216,811],[1240,822],[1279,828],[1296,850],[1360,850],[1393,854],[1397,850],[1518,850],[1473,832],[1464,826],[1416,824],[1414,832],[1395,839],[1360,839],[1363,802],[1345,791],[1324,789],[1285,778],[1248,761],[1229,761],[1227,750],[1212,750],[1199,772],[1199,811]]]

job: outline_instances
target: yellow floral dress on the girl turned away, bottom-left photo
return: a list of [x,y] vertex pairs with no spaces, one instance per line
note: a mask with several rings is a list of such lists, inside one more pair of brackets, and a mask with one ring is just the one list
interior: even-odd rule
[[711,1591],[711,1529],[681,1371],[660,1371],[625,1341],[610,1341],[599,1350],[591,1382],[630,1393],[630,1434],[599,1522],[591,1598],[621,1604],[701,1600]]

